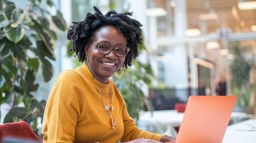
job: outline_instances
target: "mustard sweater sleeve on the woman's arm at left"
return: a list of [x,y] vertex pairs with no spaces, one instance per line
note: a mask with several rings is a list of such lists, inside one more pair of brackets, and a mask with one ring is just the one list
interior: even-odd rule
[[80,80],[72,70],[63,71],[55,80],[45,107],[44,142],[74,142],[76,123],[84,101]]

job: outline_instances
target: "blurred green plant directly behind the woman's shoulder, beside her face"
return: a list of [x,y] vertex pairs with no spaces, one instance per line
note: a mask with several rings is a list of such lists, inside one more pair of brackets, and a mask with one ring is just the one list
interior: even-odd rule
[[[138,46],[138,51],[139,53],[146,51],[144,42]],[[150,64],[141,63],[136,59],[132,61],[131,65],[128,69],[114,74],[113,80],[124,97],[129,115],[138,120],[140,111],[153,110],[153,105],[145,90],[149,91],[148,86],[155,76],[153,76]]]

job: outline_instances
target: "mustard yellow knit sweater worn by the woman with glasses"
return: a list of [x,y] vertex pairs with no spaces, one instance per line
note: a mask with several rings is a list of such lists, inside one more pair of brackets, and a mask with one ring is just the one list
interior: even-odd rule
[[111,79],[106,84],[97,81],[104,101],[109,105],[112,86],[113,112],[117,123],[111,129],[109,115],[87,64],[75,70],[61,72],[45,108],[42,123],[44,142],[118,142],[137,138],[160,141],[163,135],[137,128],[129,116],[125,101]]

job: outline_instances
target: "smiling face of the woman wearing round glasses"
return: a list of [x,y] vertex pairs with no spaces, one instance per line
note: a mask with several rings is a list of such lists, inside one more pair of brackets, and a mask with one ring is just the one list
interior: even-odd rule
[[[121,69],[121,67],[124,65],[125,54],[128,54],[128,52],[125,53],[125,50],[123,50],[124,52],[121,52],[121,54],[116,54],[117,48],[112,50],[111,46],[103,45],[122,45],[123,49],[125,49],[126,47],[124,45],[127,45],[126,39],[124,38],[124,35],[114,26],[101,27],[94,33],[92,39],[94,39],[94,41],[98,44],[96,44],[96,46],[91,44],[90,46],[85,47],[85,53],[88,58],[87,65],[95,79],[102,83],[107,83],[109,77],[113,76],[113,74],[115,74],[116,71]],[[107,47],[109,49],[107,49]],[[106,52],[104,52],[102,49],[104,49]]]

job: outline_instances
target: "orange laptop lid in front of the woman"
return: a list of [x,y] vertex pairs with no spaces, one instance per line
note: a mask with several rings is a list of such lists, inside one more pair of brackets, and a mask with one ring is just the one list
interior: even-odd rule
[[221,143],[236,96],[190,96],[175,143]]

